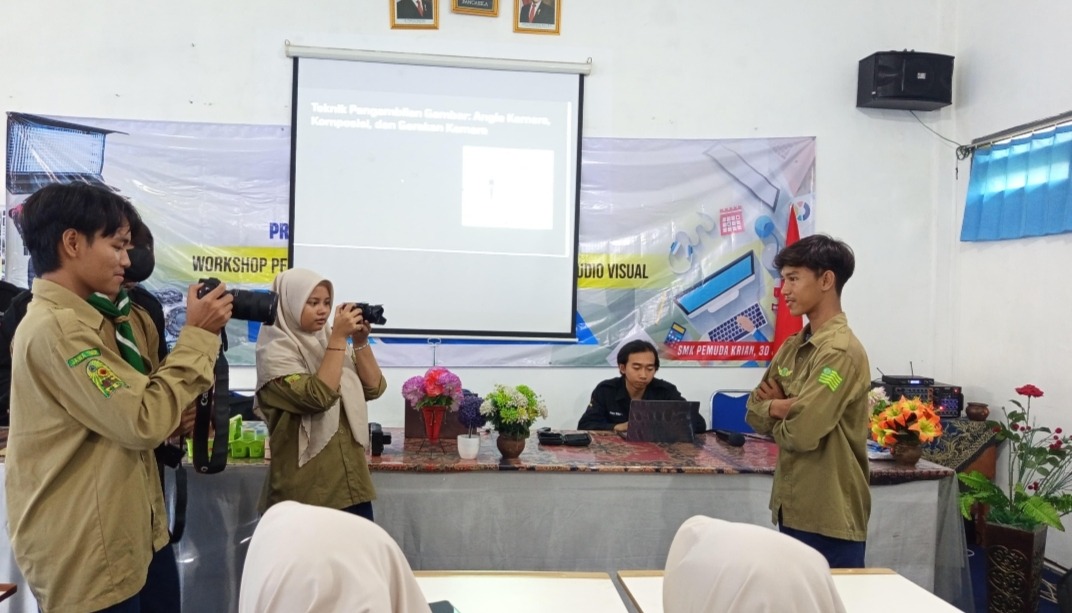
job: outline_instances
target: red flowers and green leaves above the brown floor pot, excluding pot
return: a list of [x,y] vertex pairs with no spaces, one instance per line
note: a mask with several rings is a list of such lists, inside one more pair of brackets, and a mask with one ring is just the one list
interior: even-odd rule
[[1045,524],[1063,530],[1061,517],[1072,512],[1072,437],[1061,429],[1051,431],[1034,424],[1031,399],[1042,398],[1033,385],[1016,388],[1027,399],[1026,406],[1012,399],[1016,409],[1001,407],[1006,422],[987,421],[998,440],[1009,443],[1007,489],[1002,490],[979,470],[957,475],[965,485],[961,512],[971,518],[977,504],[989,506],[986,521],[1023,529]]

